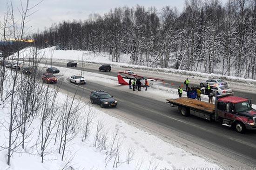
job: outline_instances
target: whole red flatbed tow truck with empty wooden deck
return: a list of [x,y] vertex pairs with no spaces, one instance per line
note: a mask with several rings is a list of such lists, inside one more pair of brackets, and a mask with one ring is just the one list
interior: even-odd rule
[[233,93],[218,95],[215,104],[186,97],[166,100],[171,107],[177,106],[183,116],[192,114],[206,120],[215,120],[234,127],[240,133],[246,129],[256,130],[256,110],[252,108],[251,100],[233,96]]

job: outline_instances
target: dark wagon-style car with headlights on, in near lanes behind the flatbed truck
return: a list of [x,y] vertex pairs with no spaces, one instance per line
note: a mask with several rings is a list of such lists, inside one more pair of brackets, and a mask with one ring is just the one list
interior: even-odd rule
[[107,92],[97,90],[92,91],[90,94],[92,104],[99,104],[101,107],[116,107],[117,101]]

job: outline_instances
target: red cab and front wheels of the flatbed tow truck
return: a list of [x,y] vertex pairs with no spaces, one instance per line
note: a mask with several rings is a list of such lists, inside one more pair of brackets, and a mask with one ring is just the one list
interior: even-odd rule
[[215,119],[228,126],[234,126],[237,132],[256,130],[256,110],[252,108],[249,99],[232,95],[220,96],[215,107]]

